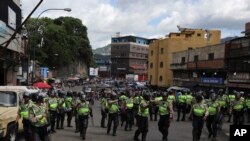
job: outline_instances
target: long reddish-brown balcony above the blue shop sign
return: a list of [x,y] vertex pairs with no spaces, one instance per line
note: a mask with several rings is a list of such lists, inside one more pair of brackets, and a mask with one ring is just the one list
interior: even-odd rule
[[188,69],[223,69],[224,66],[224,59],[201,60],[187,64]]

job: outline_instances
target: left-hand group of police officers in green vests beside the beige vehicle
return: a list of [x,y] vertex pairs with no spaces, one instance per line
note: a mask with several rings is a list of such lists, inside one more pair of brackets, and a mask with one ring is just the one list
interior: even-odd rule
[[[59,96],[57,96],[57,94]],[[74,97],[73,97],[74,95]],[[89,115],[93,117],[92,108],[86,95],[71,91],[55,90],[36,94],[23,94],[23,103],[17,113],[16,122],[23,119],[24,138],[26,141],[49,141],[49,133],[57,129],[64,129],[65,113],[68,115],[67,126],[71,126],[73,111],[76,115],[76,130],[80,131],[82,139],[86,138]],[[57,122],[56,122],[57,121]]]

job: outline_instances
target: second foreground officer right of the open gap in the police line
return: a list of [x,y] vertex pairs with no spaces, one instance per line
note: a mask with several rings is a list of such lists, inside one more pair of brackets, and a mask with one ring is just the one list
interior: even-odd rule
[[116,136],[116,130],[119,125],[119,106],[118,106],[118,99],[117,95],[112,92],[110,96],[110,100],[108,100],[108,128],[107,128],[107,134],[110,133],[111,125],[113,122],[113,136]]

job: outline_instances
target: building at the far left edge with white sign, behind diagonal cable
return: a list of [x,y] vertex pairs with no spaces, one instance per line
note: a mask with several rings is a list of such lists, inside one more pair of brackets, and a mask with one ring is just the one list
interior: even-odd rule
[[21,48],[20,32],[6,47],[6,41],[21,25],[20,0],[0,0],[0,85],[16,85]]

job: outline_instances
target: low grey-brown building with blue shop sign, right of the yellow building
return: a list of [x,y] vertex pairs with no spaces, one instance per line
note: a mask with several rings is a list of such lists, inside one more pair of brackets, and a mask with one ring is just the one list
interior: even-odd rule
[[173,53],[172,57],[173,85],[225,87],[225,44],[189,48]]

